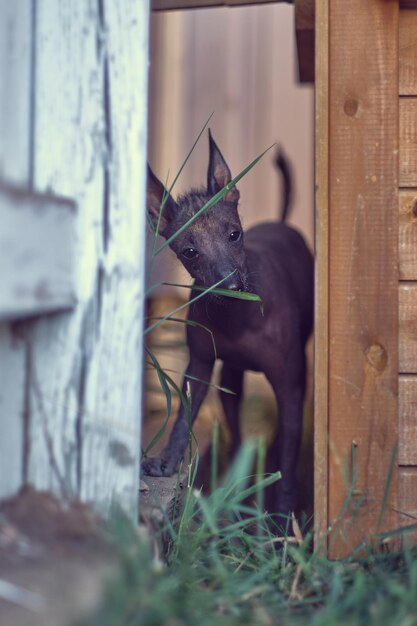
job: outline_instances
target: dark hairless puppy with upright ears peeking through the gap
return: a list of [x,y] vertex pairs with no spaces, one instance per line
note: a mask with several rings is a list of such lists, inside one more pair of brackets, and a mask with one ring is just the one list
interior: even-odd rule
[[[232,180],[210,131],[209,144],[207,189],[192,189],[176,202],[168,197],[160,219],[165,238]],[[285,179],[288,172],[284,162],[281,169]],[[149,169],[147,202],[154,224],[164,193],[164,186]],[[279,407],[279,429],[268,452],[267,471],[280,470],[282,479],[270,512],[287,516],[297,500],[295,468],[302,431],[305,344],[313,325],[313,258],[301,235],[283,221],[263,223],[243,233],[238,200],[239,192],[233,187],[170,246],[196,285],[210,287],[224,279],[221,288],[253,292],[262,298],[263,313],[255,302],[207,294],[191,304],[189,319],[212,332],[217,357],[223,361],[220,384],[234,392],[221,393],[233,452],[240,443],[244,371],[263,372],[272,385]],[[287,204],[284,202],[283,215]],[[198,293],[193,291],[191,297]],[[201,326],[187,326],[187,340],[190,361],[183,393],[188,381],[194,421],[207,392],[207,385],[200,381],[210,381],[215,354],[211,335]],[[189,421],[181,406],[168,445],[159,457],[144,460],[143,472],[172,475],[183,458],[188,437]]]

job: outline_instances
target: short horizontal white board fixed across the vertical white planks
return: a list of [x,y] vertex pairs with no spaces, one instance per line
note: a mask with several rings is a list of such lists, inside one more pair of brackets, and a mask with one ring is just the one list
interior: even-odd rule
[[0,222],[0,319],[74,306],[74,203],[0,180]]

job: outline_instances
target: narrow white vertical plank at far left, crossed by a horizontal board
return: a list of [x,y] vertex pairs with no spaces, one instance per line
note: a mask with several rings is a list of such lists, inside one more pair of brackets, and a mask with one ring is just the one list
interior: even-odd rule
[[[31,172],[31,18],[32,2],[1,3],[0,176],[25,186]],[[15,325],[0,322],[0,354],[0,498],[5,498],[24,478],[27,352]]]

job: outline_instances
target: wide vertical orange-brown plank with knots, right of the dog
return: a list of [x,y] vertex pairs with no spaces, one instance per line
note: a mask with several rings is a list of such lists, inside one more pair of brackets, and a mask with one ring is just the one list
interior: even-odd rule
[[[329,517],[341,556],[396,525],[398,4],[330,4]],[[366,62],[365,62],[366,60]]]

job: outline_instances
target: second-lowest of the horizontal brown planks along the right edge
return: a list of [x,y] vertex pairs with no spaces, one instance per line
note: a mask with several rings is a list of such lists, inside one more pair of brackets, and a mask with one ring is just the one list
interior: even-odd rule
[[417,465],[417,375],[399,378],[399,438],[400,465]]

